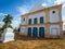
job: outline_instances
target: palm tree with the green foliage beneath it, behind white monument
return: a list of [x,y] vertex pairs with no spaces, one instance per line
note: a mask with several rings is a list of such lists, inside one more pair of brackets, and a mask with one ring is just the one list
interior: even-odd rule
[[13,27],[10,25],[10,24],[12,23],[12,20],[13,20],[13,17],[12,17],[10,14],[4,15],[4,19],[2,20],[2,22],[4,22],[4,25],[2,26],[2,29],[1,29],[1,30],[3,30],[3,29],[6,28],[6,27],[13,28]]

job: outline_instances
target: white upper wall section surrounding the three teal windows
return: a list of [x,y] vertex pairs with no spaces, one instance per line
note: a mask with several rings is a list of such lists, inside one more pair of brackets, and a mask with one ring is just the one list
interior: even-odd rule
[[[29,15],[28,20],[31,19],[32,20],[31,24],[34,24],[34,19],[37,17],[38,19],[38,24],[39,24],[40,23],[40,17],[42,17],[42,16],[43,16],[44,23],[46,23],[46,13],[44,12],[40,12],[40,13],[34,14],[34,15]],[[27,23],[28,23],[28,20],[27,20]]]

